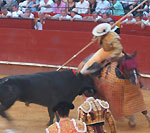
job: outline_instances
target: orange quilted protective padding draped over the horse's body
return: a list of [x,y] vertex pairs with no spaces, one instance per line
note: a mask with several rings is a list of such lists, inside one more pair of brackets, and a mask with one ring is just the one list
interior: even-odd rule
[[124,116],[146,110],[146,105],[138,86],[127,79],[116,77],[116,66],[117,63],[114,62],[104,68],[102,78],[95,79],[95,83],[99,97],[108,101],[114,118],[121,120]]

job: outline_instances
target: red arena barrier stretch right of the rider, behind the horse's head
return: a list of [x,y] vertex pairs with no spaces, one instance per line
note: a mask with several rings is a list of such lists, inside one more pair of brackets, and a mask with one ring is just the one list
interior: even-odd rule
[[150,74],[150,37],[121,34],[121,42],[125,52],[133,53],[137,51],[136,58],[139,70]]

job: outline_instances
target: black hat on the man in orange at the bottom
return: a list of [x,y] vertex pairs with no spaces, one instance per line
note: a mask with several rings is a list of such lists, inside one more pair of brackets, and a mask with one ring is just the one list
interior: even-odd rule
[[53,111],[56,112],[60,108],[74,109],[74,105],[66,101],[59,102],[56,106],[53,107]]

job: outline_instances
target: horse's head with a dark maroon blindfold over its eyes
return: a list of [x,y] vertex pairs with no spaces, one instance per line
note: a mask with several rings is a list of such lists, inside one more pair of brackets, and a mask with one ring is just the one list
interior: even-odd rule
[[135,60],[136,52],[128,55],[124,52],[124,56],[119,60],[119,69],[122,75],[131,81],[132,84],[138,83],[137,62]]

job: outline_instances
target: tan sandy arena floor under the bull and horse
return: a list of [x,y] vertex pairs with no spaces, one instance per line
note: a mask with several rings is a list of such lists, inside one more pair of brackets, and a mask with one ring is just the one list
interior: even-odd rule
[[[147,109],[150,113],[150,91],[142,90],[144,99],[147,105]],[[74,101],[75,109],[71,111],[70,118],[76,118],[77,107],[83,102],[82,97],[77,97]],[[24,103],[16,102],[7,113],[13,119],[12,124],[0,117],[0,133],[45,133],[46,124],[49,120],[46,107],[42,107],[35,104],[30,104],[26,107]],[[146,118],[141,114],[136,114],[137,126],[136,128],[130,128],[128,121],[116,122],[118,133],[150,133],[150,127]],[[107,128],[107,125],[106,125]],[[109,133],[109,130],[108,130]]]

